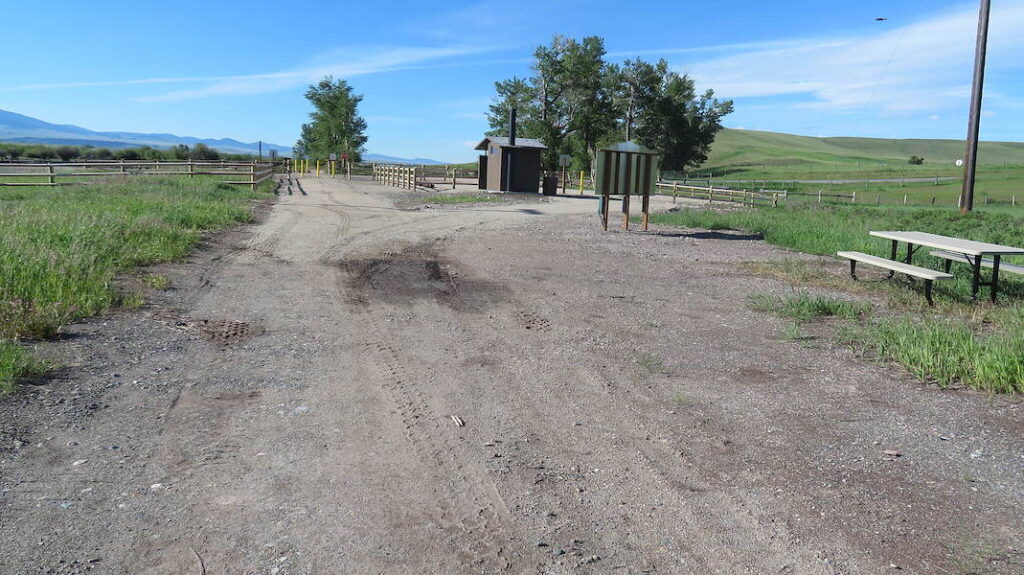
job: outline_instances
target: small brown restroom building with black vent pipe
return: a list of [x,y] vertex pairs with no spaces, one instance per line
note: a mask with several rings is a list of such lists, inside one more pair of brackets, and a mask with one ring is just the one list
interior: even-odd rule
[[548,146],[534,138],[487,136],[476,149],[480,156],[479,185],[488,191],[526,191],[541,187],[541,152]]

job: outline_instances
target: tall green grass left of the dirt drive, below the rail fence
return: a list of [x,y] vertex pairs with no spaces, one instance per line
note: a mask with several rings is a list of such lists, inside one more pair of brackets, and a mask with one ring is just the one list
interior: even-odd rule
[[0,387],[39,369],[17,342],[138,303],[139,295],[114,288],[118,273],[181,258],[204,231],[249,220],[251,201],[269,185],[254,193],[208,178],[154,176],[0,187]]

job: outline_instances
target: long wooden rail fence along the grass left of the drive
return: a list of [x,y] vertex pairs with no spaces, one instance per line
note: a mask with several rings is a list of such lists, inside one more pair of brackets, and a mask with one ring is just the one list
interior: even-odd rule
[[[256,189],[271,178],[274,165],[260,162],[83,162],[0,164],[0,186],[83,185],[111,176],[221,176],[225,183]],[[84,178],[84,179],[83,179]]]

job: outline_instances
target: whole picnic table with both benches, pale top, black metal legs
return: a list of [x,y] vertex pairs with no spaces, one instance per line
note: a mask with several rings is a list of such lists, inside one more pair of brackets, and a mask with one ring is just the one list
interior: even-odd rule
[[[950,279],[950,265],[953,262],[963,262],[972,267],[971,277],[971,299],[978,299],[978,290],[982,285],[987,285],[992,301],[998,293],[1000,259],[1002,256],[1024,255],[1024,248],[1014,248],[1012,246],[999,246],[998,244],[987,244],[984,241],[974,241],[971,239],[961,239],[958,237],[948,237],[935,233],[925,233],[922,231],[870,231],[870,235],[883,237],[892,241],[890,259],[879,258],[860,252],[838,252],[841,258],[850,260],[850,275],[856,279],[856,262],[878,266],[888,269],[889,277],[900,272],[907,275],[921,277],[925,280],[925,297],[929,305],[934,305],[932,301],[932,281],[938,279]],[[899,242],[906,244],[906,256],[903,262],[896,259]],[[922,247],[935,248],[929,254],[945,261],[945,272],[939,272],[928,268],[918,267],[910,264],[913,254]],[[986,256],[990,256],[987,258]],[[992,269],[991,280],[981,280],[981,268]],[[1013,264],[1002,264],[1001,269],[1011,273],[1024,274],[1024,266]]]

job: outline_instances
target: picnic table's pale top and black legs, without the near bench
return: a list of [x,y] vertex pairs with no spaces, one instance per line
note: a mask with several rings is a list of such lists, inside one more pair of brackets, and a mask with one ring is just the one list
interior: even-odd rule
[[[999,260],[1002,256],[1024,255],[1024,248],[1014,248],[1012,246],[999,246],[998,244],[986,244],[984,241],[973,241],[961,239],[958,237],[947,237],[935,233],[925,233],[923,231],[870,231],[870,235],[883,237],[892,241],[891,259],[897,261],[899,244],[906,244],[906,256],[903,262],[910,264],[913,254],[922,247],[935,248],[938,252],[931,252],[932,256],[946,260],[946,272],[949,272],[949,265],[954,261],[959,261],[971,265],[973,275],[971,278],[971,298],[978,298],[978,289],[982,285],[990,288],[990,296],[995,301],[995,295],[999,286]],[[986,257],[990,256],[991,259]],[[981,280],[982,266],[992,268],[992,278],[990,281]],[[1012,268],[1015,273],[1024,270],[1021,266],[1004,267]]]

